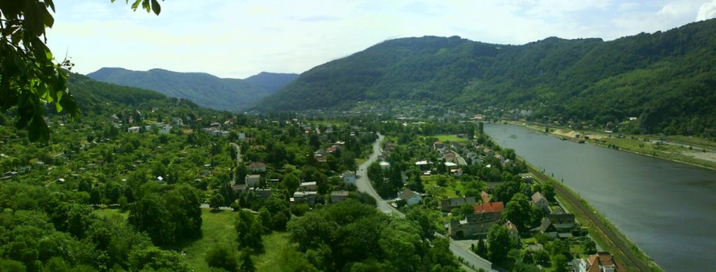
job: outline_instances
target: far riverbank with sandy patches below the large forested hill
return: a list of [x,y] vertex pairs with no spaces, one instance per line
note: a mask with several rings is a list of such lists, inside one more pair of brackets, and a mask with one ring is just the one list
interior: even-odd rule
[[664,142],[654,135],[623,135],[616,137],[614,133],[582,131],[577,132],[563,127],[549,127],[546,132],[544,125],[538,125],[531,122],[523,121],[504,121],[511,125],[526,127],[529,130],[543,132],[548,135],[560,137],[562,139],[574,139],[576,135],[580,135],[582,139],[588,136],[589,139],[584,140],[591,145],[597,145],[626,152],[632,152],[639,155],[649,157],[657,157],[672,162],[684,163],[702,167],[709,170],[716,170],[716,143],[710,143],[700,140],[690,140],[685,136],[674,136],[679,139],[678,142]]

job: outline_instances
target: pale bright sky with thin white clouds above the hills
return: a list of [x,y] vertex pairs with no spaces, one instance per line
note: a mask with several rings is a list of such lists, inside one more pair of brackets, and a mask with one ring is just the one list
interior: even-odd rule
[[[132,0],[133,1],[133,0]],[[246,78],[301,73],[387,39],[460,36],[526,44],[673,29],[716,17],[716,0],[166,0],[159,16],[123,0],[54,1],[48,45],[73,72],[102,67]]]

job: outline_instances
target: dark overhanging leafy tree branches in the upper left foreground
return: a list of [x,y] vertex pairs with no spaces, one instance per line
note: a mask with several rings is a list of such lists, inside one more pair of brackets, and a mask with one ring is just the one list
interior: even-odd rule
[[[114,0],[112,0],[114,1]],[[127,0],[128,2],[129,0]],[[154,11],[159,14],[157,0],[136,0],[132,9]],[[77,120],[79,107],[67,90],[67,72],[72,64],[65,59],[55,63],[47,43],[47,28],[52,28],[55,11],[53,1],[2,1],[0,14],[0,112],[16,109],[15,126],[27,128],[33,142],[49,140],[49,128],[44,121],[44,106],[53,103],[57,112],[64,112]]]

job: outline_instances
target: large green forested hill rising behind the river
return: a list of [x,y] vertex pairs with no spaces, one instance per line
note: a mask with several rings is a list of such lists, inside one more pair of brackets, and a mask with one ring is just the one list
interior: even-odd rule
[[524,45],[394,39],[304,72],[255,110],[346,110],[359,101],[439,101],[533,110],[543,121],[701,134],[716,125],[716,20],[601,39]]

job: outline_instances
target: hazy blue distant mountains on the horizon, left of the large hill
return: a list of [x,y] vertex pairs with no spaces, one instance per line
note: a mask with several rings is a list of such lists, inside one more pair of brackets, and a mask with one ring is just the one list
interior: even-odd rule
[[[102,68],[87,74],[102,82],[140,87],[170,97],[190,99],[216,110],[237,112],[290,82],[290,74],[261,73],[256,79],[222,79],[205,73],[171,72],[151,69],[146,72],[122,68]],[[258,82],[255,84],[253,82]]]

